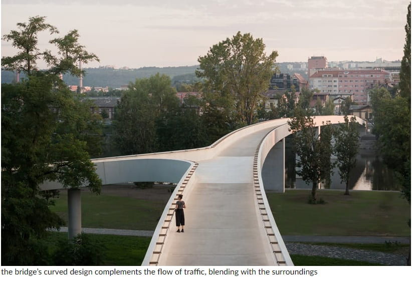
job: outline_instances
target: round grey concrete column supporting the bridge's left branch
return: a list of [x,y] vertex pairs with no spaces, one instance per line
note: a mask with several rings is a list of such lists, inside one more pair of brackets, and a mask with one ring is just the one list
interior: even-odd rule
[[69,210],[69,239],[82,233],[82,197],[79,188],[67,190],[67,204]]

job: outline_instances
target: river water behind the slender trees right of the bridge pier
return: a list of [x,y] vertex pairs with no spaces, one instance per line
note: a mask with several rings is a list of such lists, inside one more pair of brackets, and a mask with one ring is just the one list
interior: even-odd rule
[[[290,141],[289,141],[290,142]],[[288,141],[285,147],[285,187],[286,188],[311,188],[295,171],[295,155]],[[399,190],[395,185],[395,175],[390,168],[376,155],[373,150],[360,150],[356,157],[356,166],[349,177],[349,189],[353,190]],[[345,189],[345,184],[340,182],[338,169],[334,169],[330,185],[321,184],[321,188]]]

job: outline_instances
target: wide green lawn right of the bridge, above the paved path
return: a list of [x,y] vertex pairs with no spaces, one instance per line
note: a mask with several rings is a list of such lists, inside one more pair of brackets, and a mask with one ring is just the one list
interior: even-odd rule
[[268,193],[284,235],[410,236],[410,205],[399,192],[322,190],[326,204],[308,204],[308,190]]

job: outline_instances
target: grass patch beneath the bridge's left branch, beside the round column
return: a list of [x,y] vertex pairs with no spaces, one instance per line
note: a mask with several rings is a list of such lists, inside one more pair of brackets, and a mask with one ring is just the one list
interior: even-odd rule
[[[82,192],[82,226],[88,228],[112,228],[154,230],[165,203],[124,196],[96,195]],[[67,192],[62,191],[51,210],[67,223]]]

